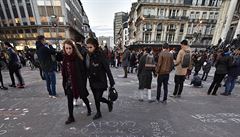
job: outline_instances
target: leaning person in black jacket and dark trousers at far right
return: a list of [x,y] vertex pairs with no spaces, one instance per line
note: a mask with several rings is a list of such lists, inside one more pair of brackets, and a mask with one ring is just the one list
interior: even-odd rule
[[228,49],[225,48],[223,51],[219,51],[217,61],[215,64],[216,71],[214,73],[213,81],[211,86],[208,89],[207,94],[217,95],[217,90],[221,85],[222,80],[228,73],[228,69],[232,64],[232,59],[228,54]]

